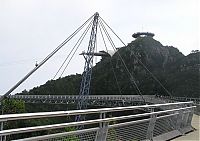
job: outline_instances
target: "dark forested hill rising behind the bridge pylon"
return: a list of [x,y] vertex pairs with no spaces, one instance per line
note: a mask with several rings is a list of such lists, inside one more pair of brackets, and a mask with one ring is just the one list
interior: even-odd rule
[[[172,95],[199,97],[200,53],[184,56],[177,48],[163,46],[152,37],[138,37],[112,57],[102,58],[93,68],[91,94],[137,94],[119,54],[142,94],[167,95],[167,92],[140,61]],[[80,81],[80,74],[70,75],[20,94],[78,94]]]

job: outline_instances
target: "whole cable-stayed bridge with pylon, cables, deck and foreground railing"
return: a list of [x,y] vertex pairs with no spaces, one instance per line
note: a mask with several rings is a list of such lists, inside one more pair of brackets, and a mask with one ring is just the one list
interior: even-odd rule
[[[82,35],[53,78],[55,79],[59,73],[61,73],[61,75],[63,74],[78,47],[82,43],[85,35],[91,28],[87,52],[81,53],[85,59],[85,66],[78,95],[10,95],[18,86],[20,86],[43,64],[45,64],[84,27],[85,30],[83,31]],[[103,39],[107,54],[105,54],[105,52],[95,52],[95,48],[97,47],[96,41],[98,29]],[[155,81],[166,91],[169,96],[163,97],[157,95],[143,95],[134,79],[134,76],[126,66],[123,57],[117,51],[115,43],[110,37],[107,29],[110,29],[110,31],[119,39],[119,41],[126,46],[119,36],[114,32],[114,30],[99,16],[99,13],[95,13],[63,43],[61,43],[52,53],[50,53],[42,62],[38,63],[33,70],[25,75],[24,78],[22,78],[16,85],[8,90],[8,92],[0,97],[0,101],[2,101],[4,98],[11,98],[20,99],[26,103],[35,104],[75,104],[77,106],[76,110],[0,115],[0,136],[2,141],[161,141],[170,140],[195,130],[191,123],[195,108],[199,105],[199,99],[172,97],[171,93],[161,84],[161,82],[153,75],[153,73],[151,73],[149,69],[140,61],[140,59],[135,56],[143,68],[152,76],[152,78],[155,79]],[[122,61],[123,67],[130,78],[130,85],[136,89],[138,95],[90,94],[94,56],[111,56],[108,55],[109,53],[105,37],[107,37],[107,40],[113,47],[114,52],[117,53],[119,59]],[[62,68],[63,71],[60,72]],[[104,108],[87,108],[88,106],[94,105]],[[4,124],[8,122],[14,123],[14,121],[60,117],[65,117],[70,120],[67,120],[64,123],[62,122],[51,125],[23,126],[5,130],[3,128]],[[73,130],[63,130],[66,128],[72,128]],[[43,133],[42,131],[55,132]],[[38,132],[42,132],[43,134],[38,135]],[[31,136],[27,137],[26,134]]]

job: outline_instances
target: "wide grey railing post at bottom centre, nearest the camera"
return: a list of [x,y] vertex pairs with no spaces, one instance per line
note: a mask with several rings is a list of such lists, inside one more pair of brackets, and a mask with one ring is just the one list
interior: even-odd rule
[[[105,119],[105,118],[106,118],[106,113],[100,113],[100,119]],[[95,141],[106,141],[107,133],[108,133],[108,123],[100,122],[99,130],[97,131]]]

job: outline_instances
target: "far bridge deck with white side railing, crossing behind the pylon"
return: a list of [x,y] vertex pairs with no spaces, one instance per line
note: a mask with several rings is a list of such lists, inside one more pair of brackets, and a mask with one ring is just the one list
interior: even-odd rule
[[[79,99],[78,95],[11,95],[9,98],[20,99],[26,103],[59,103],[73,104]],[[113,105],[113,106],[130,106],[141,105],[146,103],[165,103],[163,100],[156,98],[154,95],[87,95],[88,105]],[[111,107],[113,107],[111,106]]]

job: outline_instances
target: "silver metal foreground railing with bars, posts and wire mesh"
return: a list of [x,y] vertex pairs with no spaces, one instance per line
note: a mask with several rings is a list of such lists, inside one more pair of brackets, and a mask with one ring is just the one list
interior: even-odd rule
[[[34,127],[21,127],[0,131],[3,140],[24,133],[34,133],[74,127],[73,131],[59,130],[60,133],[29,136],[23,141],[133,141],[169,140],[192,131],[193,102],[165,103],[129,107],[23,113],[0,115],[0,122],[19,120],[73,117],[87,115],[86,121],[57,123]],[[166,110],[162,110],[166,109]],[[145,112],[148,111],[148,112]],[[76,130],[84,125],[84,129]],[[58,131],[58,130],[57,130]],[[34,134],[35,135],[35,134]],[[6,138],[7,137],[7,138]],[[12,138],[13,139],[13,138]]]

